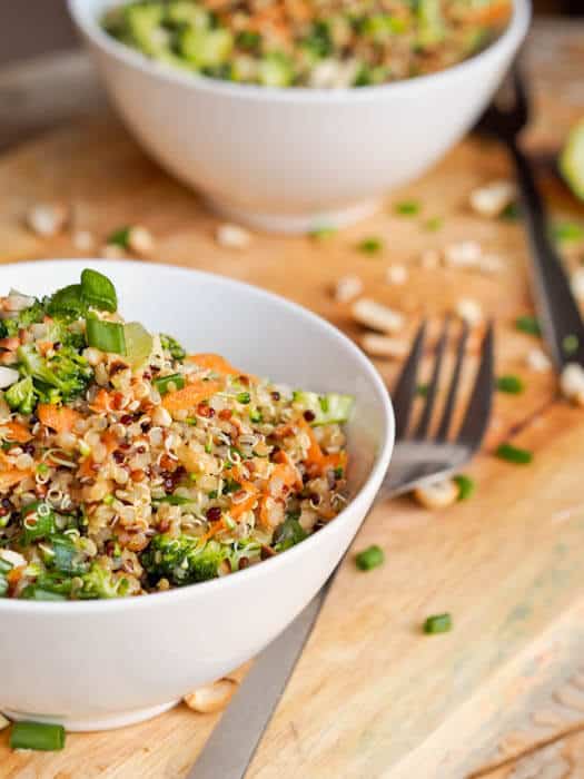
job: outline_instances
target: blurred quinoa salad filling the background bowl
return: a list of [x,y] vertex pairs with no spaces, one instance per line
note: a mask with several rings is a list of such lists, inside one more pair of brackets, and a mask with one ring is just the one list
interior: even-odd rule
[[496,40],[511,14],[512,0],[139,0],[102,26],[184,71],[339,88],[448,68]]

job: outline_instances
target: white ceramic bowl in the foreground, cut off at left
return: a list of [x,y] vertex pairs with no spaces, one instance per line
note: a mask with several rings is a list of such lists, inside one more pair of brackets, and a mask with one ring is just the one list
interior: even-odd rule
[[3,265],[2,289],[42,295],[95,267],[122,313],[218,352],[277,382],[356,396],[348,425],[353,500],[329,525],[271,560],[224,579],[116,601],[0,599],[0,710],[100,730],[151,717],[259,652],[324,584],[387,470],[392,407],[377,372],[331,325],[220,276],[141,263]]

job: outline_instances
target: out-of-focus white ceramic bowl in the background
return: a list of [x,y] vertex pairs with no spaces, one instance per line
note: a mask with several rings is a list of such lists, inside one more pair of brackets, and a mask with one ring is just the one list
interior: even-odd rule
[[473,125],[529,23],[529,0],[484,52],[435,75],[358,89],[273,89],[196,78],[152,62],[99,27],[119,0],[69,0],[128,128],[218,210],[306,231],[374,210]]

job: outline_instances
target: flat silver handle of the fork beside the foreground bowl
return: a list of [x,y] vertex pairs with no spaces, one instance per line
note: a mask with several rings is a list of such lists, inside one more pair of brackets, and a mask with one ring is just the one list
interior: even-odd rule
[[187,779],[241,779],[303,653],[330,581],[257,658]]

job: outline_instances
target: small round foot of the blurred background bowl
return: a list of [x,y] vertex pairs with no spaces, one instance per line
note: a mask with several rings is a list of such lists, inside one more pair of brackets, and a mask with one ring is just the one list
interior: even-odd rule
[[265,233],[284,233],[287,235],[301,235],[314,233],[318,229],[339,228],[353,225],[356,221],[372,216],[380,208],[382,199],[363,200],[345,208],[331,211],[317,211],[314,214],[273,214],[246,208],[237,208],[220,198],[206,198],[214,211],[238,225],[246,225]]

